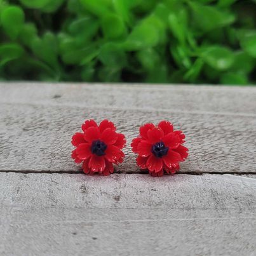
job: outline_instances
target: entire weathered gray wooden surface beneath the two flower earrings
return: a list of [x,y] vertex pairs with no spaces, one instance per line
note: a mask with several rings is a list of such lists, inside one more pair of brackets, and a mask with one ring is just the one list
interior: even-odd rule
[[[0,83],[0,95],[0,255],[256,255],[256,88]],[[128,138],[118,174],[72,162],[88,118]],[[189,159],[175,176],[135,174],[130,141],[161,119],[187,135]]]

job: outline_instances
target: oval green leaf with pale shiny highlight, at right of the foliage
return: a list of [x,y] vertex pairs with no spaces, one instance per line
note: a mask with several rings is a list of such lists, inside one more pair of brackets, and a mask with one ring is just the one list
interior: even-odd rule
[[234,54],[232,51],[222,46],[209,46],[203,48],[201,57],[206,64],[219,71],[229,69],[234,63]]

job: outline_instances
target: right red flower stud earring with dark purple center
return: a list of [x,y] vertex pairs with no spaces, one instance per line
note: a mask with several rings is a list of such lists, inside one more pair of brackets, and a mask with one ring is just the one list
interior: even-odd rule
[[148,169],[152,176],[174,174],[180,161],[188,156],[188,149],[182,145],[184,139],[184,133],[173,131],[168,121],[161,121],[158,126],[152,123],[141,126],[140,135],[131,142],[132,151],[138,154],[137,165]]

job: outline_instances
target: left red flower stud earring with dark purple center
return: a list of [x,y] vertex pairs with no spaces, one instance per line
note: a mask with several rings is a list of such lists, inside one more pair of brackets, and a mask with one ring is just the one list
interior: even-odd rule
[[109,175],[114,172],[113,164],[123,162],[125,154],[121,151],[125,147],[125,135],[116,133],[116,127],[108,120],[97,125],[94,120],[87,120],[82,125],[83,133],[76,133],[72,137],[72,158],[76,163],[83,162],[86,174]]

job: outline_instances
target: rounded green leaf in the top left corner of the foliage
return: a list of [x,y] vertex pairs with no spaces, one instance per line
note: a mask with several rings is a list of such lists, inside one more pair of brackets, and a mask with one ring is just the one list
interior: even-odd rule
[[24,11],[18,6],[8,6],[1,12],[3,29],[11,39],[16,39],[18,37],[18,34],[24,25],[24,20]]

